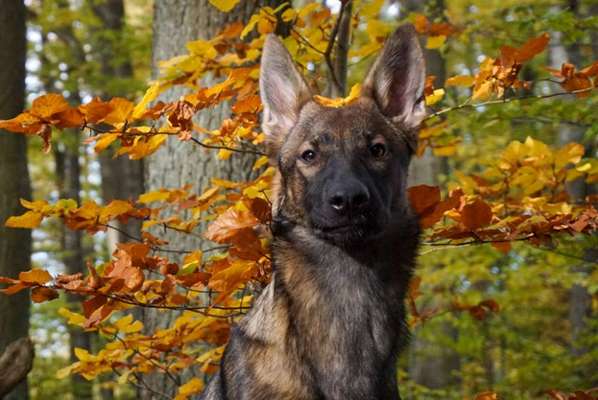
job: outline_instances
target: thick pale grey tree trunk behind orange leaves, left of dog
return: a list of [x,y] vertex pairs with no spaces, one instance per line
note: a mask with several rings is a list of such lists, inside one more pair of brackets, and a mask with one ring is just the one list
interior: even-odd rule
[[[156,0],[154,3],[153,66],[157,75],[160,60],[167,60],[185,52],[185,44],[191,40],[207,39],[217,34],[226,25],[247,22],[260,7],[275,7],[283,3],[279,0],[242,1],[229,13],[222,13],[207,0]],[[207,79],[204,84],[214,83]],[[161,96],[162,100],[178,99],[185,89],[175,88]],[[214,129],[230,113],[230,108],[222,104],[207,110],[198,118],[198,124]],[[156,154],[146,160],[146,189],[179,188],[191,184],[195,193],[200,194],[210,185],[212,177],[232,180],[245,180],[252,176],[255,157],[235,154],[228,161],[216,158],[216,152],[206,151],[191,142],[181,142],[170,138]],[[201,229],[203,227],[200,227]],[[199,231],[198,229],[198,231]],[[196,249],[201,240],[196,236],[160,232],[160,237],[176,244],[179,249]],[[177,317],[176,313],[159,313],[144,310],[144,325],[148,332],[158,327],[168,326]],[[172,394],[175,388],[163,374],[146,378],[153,389]],[[154,395],[142,391],[141,397],[152,399]]]

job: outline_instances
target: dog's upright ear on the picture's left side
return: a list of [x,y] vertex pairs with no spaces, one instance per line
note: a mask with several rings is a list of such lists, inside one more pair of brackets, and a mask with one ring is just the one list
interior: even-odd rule
[[264,105],[262,129],[268,142],[277,148],[312,93],[291,55],[273,34],[267,36],[262,52],[260,95]]

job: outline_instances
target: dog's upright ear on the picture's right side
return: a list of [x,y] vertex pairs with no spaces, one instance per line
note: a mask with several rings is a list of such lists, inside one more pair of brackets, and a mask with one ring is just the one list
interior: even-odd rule
[[[395,124],[416,132],[426,115],[425,62],[413,25],[399,27],[388,38],[363,84],[362,93],[374,99]],[[417,141],[416,133],[411,138]]]

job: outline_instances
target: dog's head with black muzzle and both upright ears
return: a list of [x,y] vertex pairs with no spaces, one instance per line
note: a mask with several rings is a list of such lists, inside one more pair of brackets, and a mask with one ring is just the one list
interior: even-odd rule
[[388,39],[355,102],[330,108],[278,38],[266,40],[263,131],[278,167],[273,215],[339,244],[383,233],[407,209],[407,168],[425,116],[425,66],[411,25]]

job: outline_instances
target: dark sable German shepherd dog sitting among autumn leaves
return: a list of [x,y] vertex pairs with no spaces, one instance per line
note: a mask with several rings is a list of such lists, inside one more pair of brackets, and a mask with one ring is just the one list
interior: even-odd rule
[[261,68],[263,131],[278,171],[274,274],[233,329],[202,398],[399,399],[419,237],[407,168],[425,116],[416,33],[397,29],[360,98],[341,108],[313,101],[275,36]]

